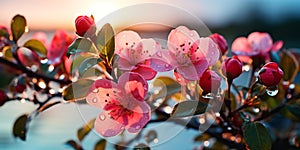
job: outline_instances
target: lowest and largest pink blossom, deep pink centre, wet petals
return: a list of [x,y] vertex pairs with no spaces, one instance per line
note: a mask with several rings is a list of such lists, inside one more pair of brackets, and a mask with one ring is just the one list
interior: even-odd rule
[[86,97],[90,105],[103,109],[95,122],[96,131],[104,137],[118,135],[124,129],[139,132],[151,117],[144,101],[147,91],[147,82],[137,73],[124,73],[118,83],[96,80]]

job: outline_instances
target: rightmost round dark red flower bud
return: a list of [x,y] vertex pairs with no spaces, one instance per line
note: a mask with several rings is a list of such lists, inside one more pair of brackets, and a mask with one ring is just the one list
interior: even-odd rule
[[269,62],[259,70],[258,78],[263,85],[272,87],[277,85],[283,78],[283,71],[275,62]]

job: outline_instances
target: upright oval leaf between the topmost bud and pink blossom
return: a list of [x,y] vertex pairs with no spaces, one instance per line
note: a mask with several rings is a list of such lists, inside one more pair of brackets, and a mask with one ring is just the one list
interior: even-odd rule
[[110,24],[105,24],[97,33],[96,46],[106,61],[111,63],[115,53],[115,33]]

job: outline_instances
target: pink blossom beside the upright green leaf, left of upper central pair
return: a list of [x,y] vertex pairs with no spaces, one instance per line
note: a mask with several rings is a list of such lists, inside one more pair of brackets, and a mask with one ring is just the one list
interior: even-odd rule
[[123,31],[116,36],[115,53],[120,56],[121,70],[136,72],[146,80],[153,79],[157,72],[150,66],[150,58],[160,48],[153,39],[141,39],[133,31]]

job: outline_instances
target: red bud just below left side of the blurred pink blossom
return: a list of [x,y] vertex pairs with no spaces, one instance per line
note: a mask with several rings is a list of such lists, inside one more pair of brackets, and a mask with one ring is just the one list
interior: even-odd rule
[[233,56],[224,60],[222,63],[222,72],[229,80],[233,80],[242,74],[242,67],[243,64],[238,57]]

